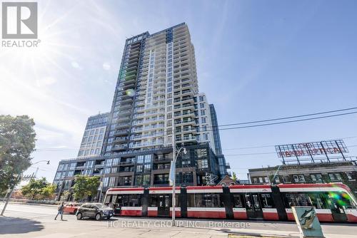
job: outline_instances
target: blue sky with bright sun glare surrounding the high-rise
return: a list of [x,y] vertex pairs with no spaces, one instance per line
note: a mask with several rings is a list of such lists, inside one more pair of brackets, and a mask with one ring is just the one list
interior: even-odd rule
[[[186,22],[219,124],[357,105],[356,1],[39,1],[39,48],[0,48],[0,113],[36,122],[39,176],[76,157],[86,118],[110,110],[126,37]],[[357,116],[221,131],[231,171],[278,165],[273,147],[346,138]],[[227,150],[228,149],[228,150]],[[237,155],[238,154],[238,155]],[[28,173],[34,172],[31,167]]]

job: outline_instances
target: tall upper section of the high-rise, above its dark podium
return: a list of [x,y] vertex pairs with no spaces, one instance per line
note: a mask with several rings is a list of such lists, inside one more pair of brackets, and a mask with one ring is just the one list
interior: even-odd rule
[[127,39],[103,154],[172,146],[174,129],[176,143],[208,141],[198,137],[197,94],[186,24]]

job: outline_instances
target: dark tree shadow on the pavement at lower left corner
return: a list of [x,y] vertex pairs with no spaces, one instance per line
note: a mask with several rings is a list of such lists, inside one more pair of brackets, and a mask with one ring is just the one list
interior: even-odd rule
[[41,222],[19,217],[0,217],[0,234],[23,234],[44,229]]

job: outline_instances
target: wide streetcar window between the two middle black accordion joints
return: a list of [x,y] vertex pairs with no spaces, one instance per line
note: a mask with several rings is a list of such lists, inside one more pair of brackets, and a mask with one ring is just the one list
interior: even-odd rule
[[221,195],[214,193],[200,194],[193,193],[187,195],[188,207],[224,207]]

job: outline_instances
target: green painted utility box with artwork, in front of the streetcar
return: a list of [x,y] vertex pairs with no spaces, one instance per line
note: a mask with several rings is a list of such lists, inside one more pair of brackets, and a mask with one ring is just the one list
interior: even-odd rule
[[291,207],[300,237],[323,237],[314,207]]

